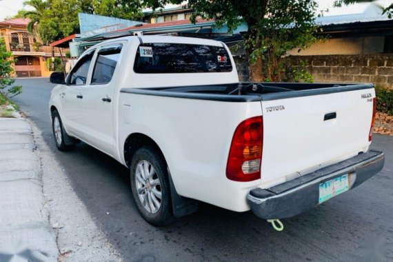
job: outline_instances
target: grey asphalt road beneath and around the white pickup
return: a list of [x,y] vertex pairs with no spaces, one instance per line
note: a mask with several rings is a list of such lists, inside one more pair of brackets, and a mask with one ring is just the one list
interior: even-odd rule
[[283,219],[283,232],[251,212],[212,205],[168,228],[154,228],[139,216],[128,171],[119,163],[84,143],[72,152],[56,150],[48,79],[17,83],[23,94],[14,101],[41,129],[54,161],[65,166],[74,191],[125,261],[393,261],[393,137],[374,136],[373,147],[386,155],[380,174],[310,212]]

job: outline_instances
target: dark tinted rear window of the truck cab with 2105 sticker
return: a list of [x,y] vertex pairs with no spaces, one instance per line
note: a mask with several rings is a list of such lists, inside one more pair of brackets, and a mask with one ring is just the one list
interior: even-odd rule
[[141,43],[134,71],[141,74],[230,72],[228,52],[219,46]]

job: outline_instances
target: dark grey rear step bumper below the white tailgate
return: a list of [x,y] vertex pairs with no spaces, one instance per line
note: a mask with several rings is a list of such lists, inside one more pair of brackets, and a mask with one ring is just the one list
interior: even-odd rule
[[319,184],[348,174],[349,190],[356,188],[383,168],[383,152],[370,150],[310,174],[275,185],[251,190],[248,205],[261,219],[284,219],[319,205]]

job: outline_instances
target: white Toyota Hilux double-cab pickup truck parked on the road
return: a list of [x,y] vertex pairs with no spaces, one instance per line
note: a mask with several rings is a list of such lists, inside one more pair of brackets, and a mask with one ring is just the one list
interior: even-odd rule
[[81,140],[130,168],[154,225],[199,201],[288,218],[383,168],[383,153],[369,150],[373,85],[239,83],[219,41],[111,39],[51,81],[57,148]]

